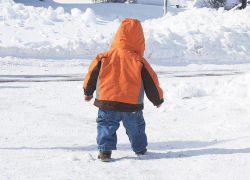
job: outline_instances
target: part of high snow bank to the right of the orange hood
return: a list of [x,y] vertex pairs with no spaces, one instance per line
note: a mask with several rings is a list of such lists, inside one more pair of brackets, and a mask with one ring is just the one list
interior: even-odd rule
[[178,60],[250,60],[250,15],[242,11],[191,9],[143,23],[146,54]]

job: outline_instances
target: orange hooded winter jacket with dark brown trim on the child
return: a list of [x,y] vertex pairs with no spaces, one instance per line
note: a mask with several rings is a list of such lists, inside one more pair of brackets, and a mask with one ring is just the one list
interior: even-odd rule
[[156,73],[143,58],[145,40],[140,21],[124,19],[110,50],[98,54],[84,79],[84,93],[94,105],[107,110],[134,112],[143,109],[144,91],[155,105],[163,103]]

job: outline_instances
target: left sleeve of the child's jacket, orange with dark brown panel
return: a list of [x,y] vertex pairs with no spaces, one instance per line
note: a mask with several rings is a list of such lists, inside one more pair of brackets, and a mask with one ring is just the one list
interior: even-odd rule
[[84,78],[83,89],[86,96],[93,95],[96,90],[96,82],[101,68],[102,54],[98,54],[89,66],[88,73]]

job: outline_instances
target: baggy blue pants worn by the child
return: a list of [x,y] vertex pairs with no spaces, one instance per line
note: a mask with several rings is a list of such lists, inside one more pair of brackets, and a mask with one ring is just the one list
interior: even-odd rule
[[120,126],[120,121],[126,129],[134,152],[142,151],[148,145],[142,111],[119,112],[99,108],[96,121],[97,144],[100,150],[116,150],[116,131]]

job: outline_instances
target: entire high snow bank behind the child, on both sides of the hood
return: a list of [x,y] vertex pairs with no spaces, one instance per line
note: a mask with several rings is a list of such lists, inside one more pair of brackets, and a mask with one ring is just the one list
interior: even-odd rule
[[[1,56],[95,56],[109,49],[119,26],[119,20],[104,21],[90,8],[65,13],[63,7],[35,8],[2,0],[0,12]],[[249,16],[250,7],[242,11],[193,8],[146,20],[142,22],[145,57],[182,62],[250,61]]]

